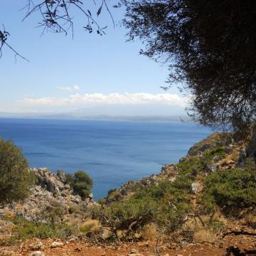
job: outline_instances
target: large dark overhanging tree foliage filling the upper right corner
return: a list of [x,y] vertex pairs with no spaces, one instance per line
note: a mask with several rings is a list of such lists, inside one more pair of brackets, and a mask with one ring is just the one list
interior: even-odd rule
[[[256,112],[256,2],[124,0],[129,38],[169,63],[203,124],[247,131]],[[165,87],[168,89],[169,86]]]

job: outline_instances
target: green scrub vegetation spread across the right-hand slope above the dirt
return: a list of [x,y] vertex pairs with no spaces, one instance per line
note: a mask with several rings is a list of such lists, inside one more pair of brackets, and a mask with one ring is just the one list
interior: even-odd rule
[[[213,218],[217,208],[221,212],[243,208],[255,205],[256,200],[256,172],[252,161],[248,161],[245,168],[209,172],[208,166],[227,156],[225,146],[216,146],[177,164],[175,181],[138,183],[129,188],[129,193],[122,193],[125,196],[119,190],[110,191],[108,198],[114,200],[107,205],[106,201],[101,201],[101,206],[92,208],[92,218],[100,220],[115,237],[122,233],[127,238],[135,233],[150,237],[151,226],[154,226],[154,233],[173,233],[183,228],[188,216],[193,216],[197,219],[191,229],[195,240],[207,237],[207,242],[213,242],[213,234],[225,226],[223,221]],[[198,180],[203,180],[204,188],[201,201],[197,201],[194,208],[191,184]]]

